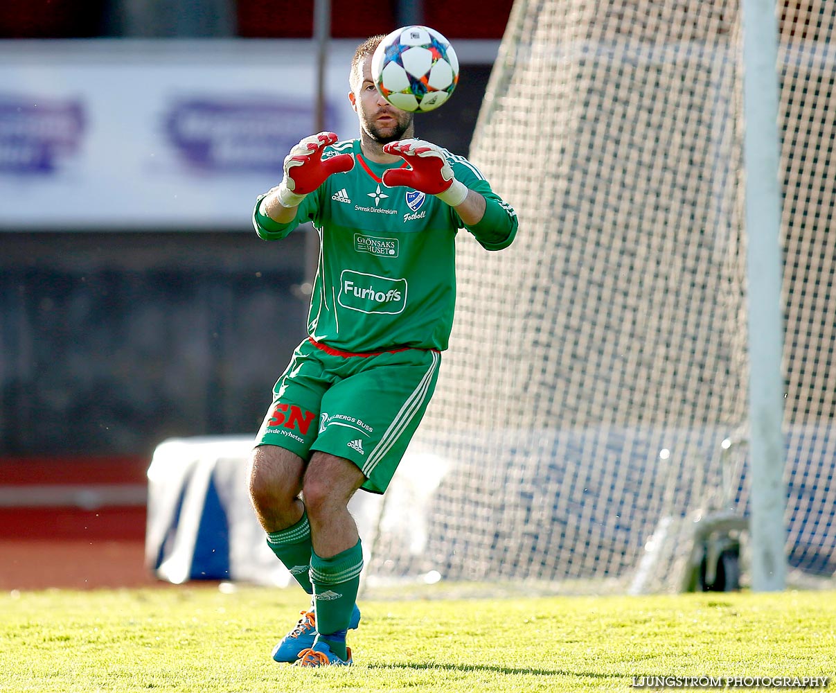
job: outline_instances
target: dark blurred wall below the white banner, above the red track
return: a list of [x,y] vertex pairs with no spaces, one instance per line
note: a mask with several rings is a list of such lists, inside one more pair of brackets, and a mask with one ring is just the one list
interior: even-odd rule
[[256,431],[304,334],[304,236],[0,233],[0,455]]

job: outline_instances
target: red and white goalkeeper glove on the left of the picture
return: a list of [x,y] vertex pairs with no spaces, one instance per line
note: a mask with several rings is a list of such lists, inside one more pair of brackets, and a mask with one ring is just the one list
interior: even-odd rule
[[295,145],[284,158],[284,177],[278,184],[278,201],[282,206],[295,207],[309,192],[323,184],[332,173],[344,173],[354,168],[354,156],[338,154],[325,161],[322,152],[337,141],[333,132],[310,135]]

